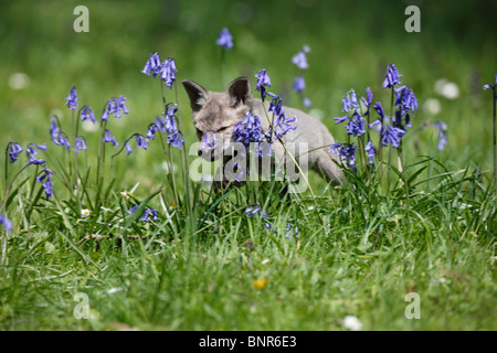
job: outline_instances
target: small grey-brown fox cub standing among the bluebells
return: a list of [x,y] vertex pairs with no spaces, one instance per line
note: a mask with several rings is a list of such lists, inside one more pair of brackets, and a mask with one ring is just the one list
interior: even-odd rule
[[[199,156],[202,158],[209,161],[223,158],[225,163],[234,157],[229,152],[234,142],[233,129],[248,110],[260,118],[264,132],[269,130],[265,113],[268,111],[269,104],[264,103],[264,109],[263,101],[253,97],[247,77],[236,78],[223,93],[210,92],[190,79],[182,81],[182,84],[190,98],[197,136],[200,141],[211,141],[200,145]],[[325,125],[298,109],[284,107],[284,111],[286,116],[295,116],[297,120],[294,122],[296,129],[288,130],[283,136],[283,142],[285,146],[294,142],[294,146],[306,147],[306,152],[300,150],[295,154],[299,165],[308,165],[332,183],[341,184],[343,173],[334,161],[339,161],[339,157],[329,152],[335,139]],[[212,135],[215,135],[214,139]],[[272,148],[276,160],[285,159],[285,148],[278,140],[273,142]]]

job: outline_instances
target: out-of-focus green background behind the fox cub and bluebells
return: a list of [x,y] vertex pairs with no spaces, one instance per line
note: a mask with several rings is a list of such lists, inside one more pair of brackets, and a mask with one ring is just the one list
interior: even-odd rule
[[[89,33],[73,30],[77,18],[73,10],[80,4],[89,10]],[[421,10],[420,33],[404,30],[410,4]],[[109,125],[118,140],[145,133],[162,111],[159,81],[140,72],[149,53],[175,57],[178,82],[190,78],[209,89],[223,89],[215,40],[228,26],[234,47],[225,55],[226,81],[247,75],[255,86],[254,74],[266,68],[285,105],[303,107],[292,92],[299,74],[292,56],[304,44],[310,46],[305,94],[313,101],[311,113],[338,140],[345,137],[343,127],[335,126],[332,118],[341,115],[341,96],[350,88],[363,94],[370,86],[374,100],[387,106],[390,93],[381,85],[387,65],[395,63],[420,105],[406,142],[410,157],[433,154],[434,129],[415,130],[425,121],[443,120],[448,146],[437,154],[440,159],[454,168],[493,168],[491,94],[482,89],[497,73],[497,2],[493,0],[18,0],[0,1],[0,9],[1,148],[9,141],[23,146],[47,141],[52,114],[70,130],[64,97],[73,85],[80,105],[89,105],[97,114],[110,97],[127,97],[131,113]],[[458,95],[438,94],[440,78],[456,84]],[[195,137],[187,95],[181,85],[178,90],[188,146]],[[438,100],[438,113],[426,108],[430,98]],[[175,100],[173,90],[167,90],[167,99]],[[96,132],[84,133],[88,140],[96,138]],[[151,149],[160,150],[156,145]],[[118,168],[129,183],[142,178],[152,184],[163,172],[161,163],[154,152],[137,151]],[[134,172],[150,165],[154,173]]]

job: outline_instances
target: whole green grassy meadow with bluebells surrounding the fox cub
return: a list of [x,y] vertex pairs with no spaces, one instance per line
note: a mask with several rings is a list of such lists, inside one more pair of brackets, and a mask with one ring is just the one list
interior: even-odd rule
[[[497,84],[494,2],[116,3],[0,2],[0,330],[497,328],[495,100],[483,89]],[[73,28],[78,4],[87,33]],[[410,4],[421,32],[405,31]],[[216,44],[223,28],[231,49]],[[155,52],[176,62],[171,87],[142,72]],[[381,157],[366,127],[372,164],[358,133],[346,184],[310,172],[304,193],[269,182],[220,194],[189,178],[198,139],[181,79],[221,92],[247,76],[258,96],[265,68],[285,106],[351,142],[335,119],[352,114],[342,98],[368,101],[370,87],[369,122],[377,101],[392,116],[390,64],[417,108]],[[181,148],[170,130],[149,135],[171,106]]]

